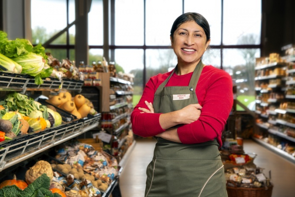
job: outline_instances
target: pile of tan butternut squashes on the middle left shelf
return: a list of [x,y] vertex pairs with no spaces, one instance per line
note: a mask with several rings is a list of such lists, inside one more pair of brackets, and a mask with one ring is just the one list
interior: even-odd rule
[[53,96],[46,101],[71,113],[78,119],[87,117],[91,109],[86,103],[86,99],[83,95],[79,94],[72,98],[72,95],[69,92],[60,92],[59,95]]

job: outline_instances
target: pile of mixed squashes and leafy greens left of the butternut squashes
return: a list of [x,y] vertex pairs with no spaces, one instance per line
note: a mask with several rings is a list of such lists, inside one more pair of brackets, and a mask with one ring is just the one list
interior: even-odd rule
[[27,134],[29,128],[39,132],[61,123],[59,112],[26,95],[11,92],[0,101],[0,141]]

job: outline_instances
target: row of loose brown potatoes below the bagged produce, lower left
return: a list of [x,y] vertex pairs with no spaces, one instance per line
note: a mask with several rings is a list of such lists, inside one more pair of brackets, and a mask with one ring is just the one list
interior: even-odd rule
[[65,174],[73,174],[75,179],[89,180],[95,188],[101,191],[106,191],[109,187],[108,183],[103,183],[100,179],[95,180],[95,177],[93,175],[85,173],[82,168],[77,169],[75,167],[72,167],[70,164],[51,164],[51,167],[58,169]]

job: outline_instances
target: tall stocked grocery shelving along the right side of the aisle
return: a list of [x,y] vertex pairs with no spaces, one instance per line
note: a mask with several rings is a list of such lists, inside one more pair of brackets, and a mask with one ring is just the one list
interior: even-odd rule
[[256,125],[253,139],[295,163],[295,155],[282,150],[282,144],[295,143],[295,137],[287,133],[290,129],[295,130],[295,108],[290,104],[295,99],[295,95],[290,94],[292,84],[295,84],[290,73],[295,73],[295,69],[288,67],[288,62],[292,61],[255,67]]

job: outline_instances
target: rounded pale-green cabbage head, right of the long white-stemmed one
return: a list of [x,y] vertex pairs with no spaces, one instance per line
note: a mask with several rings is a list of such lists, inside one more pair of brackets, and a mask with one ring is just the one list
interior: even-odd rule
[[45,66],[45,60],[42,56],[35,53],[28,53],[12,59],[23,67],[22,73],[36,76],[40,74]]

